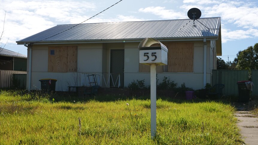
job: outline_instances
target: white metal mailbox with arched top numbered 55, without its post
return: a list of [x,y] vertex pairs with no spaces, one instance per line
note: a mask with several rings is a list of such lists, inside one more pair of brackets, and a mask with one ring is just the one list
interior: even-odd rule
[[139,62],[145,65],[167,65],[168,49],[154,38],[143,39],[139,46]]

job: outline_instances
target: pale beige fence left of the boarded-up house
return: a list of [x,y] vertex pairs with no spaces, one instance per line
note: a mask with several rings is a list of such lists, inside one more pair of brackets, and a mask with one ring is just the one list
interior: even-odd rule
[[27,74],[27,72],[0,70],[0,88],[10,88],[12,86],[13,74]]

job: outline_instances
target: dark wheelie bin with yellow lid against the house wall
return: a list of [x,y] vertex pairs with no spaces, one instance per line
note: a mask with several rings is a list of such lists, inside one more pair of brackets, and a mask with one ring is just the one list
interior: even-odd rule
[[55,92],[56,89],[56,79],[40,79],[41,90],[50,93]]

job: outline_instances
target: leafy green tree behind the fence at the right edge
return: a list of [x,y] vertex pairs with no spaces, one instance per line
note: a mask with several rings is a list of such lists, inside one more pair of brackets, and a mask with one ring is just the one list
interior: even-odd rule
[[251,77],[251,70],[258,69],[258,43],[249,46],[243,51],[239,51],[237,56],[236,68],[240,70],[249,70],[249,78]]

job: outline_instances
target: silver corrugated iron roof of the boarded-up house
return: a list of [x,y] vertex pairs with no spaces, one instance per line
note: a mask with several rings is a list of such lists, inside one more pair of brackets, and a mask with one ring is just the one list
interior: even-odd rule
[[195,25],[196,27],[193,26],[193,20],[190,19],[57,25],[19,40],[17,43],[37,41],[218,37],[220,17],[200,18],[195,21]]

